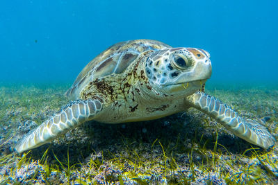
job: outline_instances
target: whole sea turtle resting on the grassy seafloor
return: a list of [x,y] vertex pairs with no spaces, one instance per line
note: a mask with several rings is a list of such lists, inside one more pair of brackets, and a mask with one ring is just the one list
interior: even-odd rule
[[211,77],[207,51],[172,48],[149,39],[120,42],[87,64],[67,90],[72,99],[59,112],[31,130],[15,146],[24,152],[41,146],[86,121],[146,121],[195,107],[246,141],[270,148],[268,130],[241,118],[221,100],[205,94]]

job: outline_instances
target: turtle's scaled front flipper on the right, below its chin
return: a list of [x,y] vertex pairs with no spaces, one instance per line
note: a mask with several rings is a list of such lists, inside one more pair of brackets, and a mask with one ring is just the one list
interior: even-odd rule
[[231,107],[217,98],[198,91],[186,98],[187,100],[193,107],[215,118],[218,123],[224,125],[241,139],[264,149],[268,149],[275,144],[274,137],[266,127],[250,119],[241,118]]

